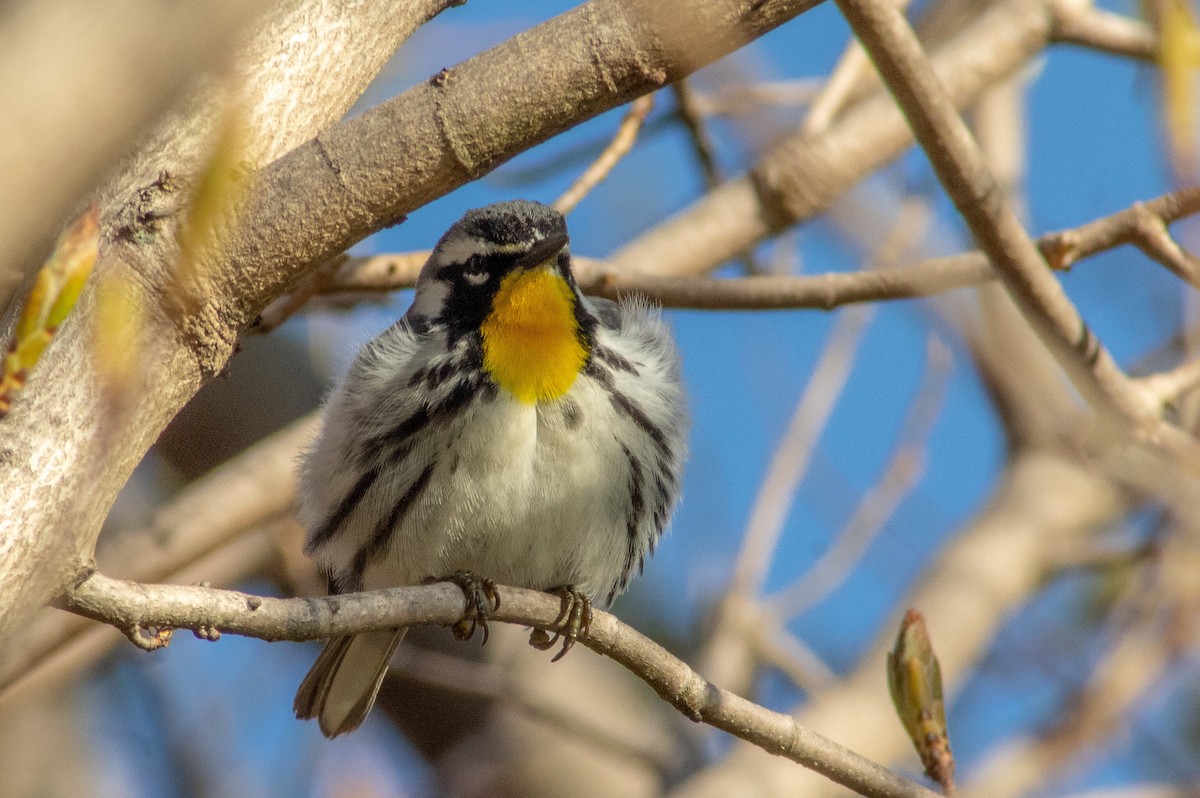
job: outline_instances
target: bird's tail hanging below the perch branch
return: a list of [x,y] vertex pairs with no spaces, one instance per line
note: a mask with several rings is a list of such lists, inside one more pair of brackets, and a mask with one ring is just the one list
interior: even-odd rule
[[325,737],[353,732],[374,704],[404,629],[386,629],[325,643],[292,704],[296,718],[317,718]]

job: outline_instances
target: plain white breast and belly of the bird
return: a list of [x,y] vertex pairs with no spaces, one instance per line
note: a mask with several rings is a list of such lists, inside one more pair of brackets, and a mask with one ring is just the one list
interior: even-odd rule
[[466,569],[503,584],[600,595],[628,548],[630,474],[607,396],[578,379],[564,400],[497,391],[456,425],[428,486],[364,587]]

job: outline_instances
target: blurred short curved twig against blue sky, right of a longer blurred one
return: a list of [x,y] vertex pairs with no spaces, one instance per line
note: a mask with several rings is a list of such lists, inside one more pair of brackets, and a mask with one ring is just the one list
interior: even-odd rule
[[868,491],[829,550],[790,586],[766,599],[780,618],[794,618],[827,596],[850,574],[924,472],[925,444],[946,397],[949,348],[936,337],[926,347],[925,378],[901,426],[899,445],[878,484]]

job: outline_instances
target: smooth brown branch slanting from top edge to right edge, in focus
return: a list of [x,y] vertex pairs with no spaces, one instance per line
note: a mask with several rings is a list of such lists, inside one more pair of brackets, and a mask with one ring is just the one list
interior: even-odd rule
[[838,0],[838,5],[976,241],[1076,389],[1096,409],[1118,415],[1134,434],[1198,467],[1195,440],[1162,420],[1160,406],[1121,371],[1046,270],[904,16],[880,0]]

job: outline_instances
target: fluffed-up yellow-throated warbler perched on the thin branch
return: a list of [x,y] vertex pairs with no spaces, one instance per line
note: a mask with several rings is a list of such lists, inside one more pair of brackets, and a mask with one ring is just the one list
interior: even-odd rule
[[[685,427],[659,313],[584,298],[557,211],[473,210],[325,407],[300,466],[306,551],[334,593],[457,581],[460,636],[476,622],[486,634],[494,582],[560,592],[586,625],[589,600],[612,601],[654,550]],[[331,640],[296,715],[329,737],[356,728],[403,635]]]

